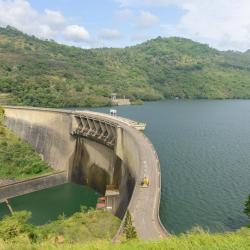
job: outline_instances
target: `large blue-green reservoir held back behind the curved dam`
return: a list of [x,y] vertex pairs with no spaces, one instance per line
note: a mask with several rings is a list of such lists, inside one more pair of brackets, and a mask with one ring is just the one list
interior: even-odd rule
[[160,217],[169,232],[196,225],[234,230],[248,222],[250,101],[171,100],[116,109],[147,123],[161,163]]

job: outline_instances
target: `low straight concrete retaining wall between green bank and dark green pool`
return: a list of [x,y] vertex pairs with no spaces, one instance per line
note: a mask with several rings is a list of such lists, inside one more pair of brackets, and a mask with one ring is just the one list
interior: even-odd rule
[[41,189],[54,187],[66,182],[66,171],[53,173],[46,176],[35,177],[24,181],[18,181],[0,187],[0,201],[7,198],[38,191]]

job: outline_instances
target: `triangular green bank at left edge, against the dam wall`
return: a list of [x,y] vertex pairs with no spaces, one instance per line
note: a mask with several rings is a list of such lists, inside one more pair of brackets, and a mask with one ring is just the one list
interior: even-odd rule
[[31,146],[3,124],[0,106],[0,179],[23,179],[52,171]]

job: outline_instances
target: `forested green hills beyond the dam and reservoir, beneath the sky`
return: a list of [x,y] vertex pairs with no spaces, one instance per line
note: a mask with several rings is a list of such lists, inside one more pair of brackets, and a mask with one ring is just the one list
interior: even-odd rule
[[221,52],[183,38],[122,49],[80,49],[0,28],[0,103],[96,106],[132,100],[250,98],[250,52]]

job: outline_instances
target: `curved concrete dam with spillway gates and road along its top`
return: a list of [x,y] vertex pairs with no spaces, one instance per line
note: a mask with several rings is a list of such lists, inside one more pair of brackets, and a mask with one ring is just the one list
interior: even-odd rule
[[[52,177],[38,177],[35,188],[24,181],[15,194],[27,192],[29,185],[38,190],[67,181],[88,185],[103,195],[110,189],[112,196],[116,190],[119,195],[113,199],[112,212],[123,219],[117,235],[123,230],[126,210],[140,238],[168,234],[159,218],[159,160],[151,142],[138,131],[140,124],[97,112],[31,107],[5,107],[5,121],[55,170]],[[150,180],[147,188],[141,187],[144,176]],[[13,196],[9,187],[0,192],[6,196],[0,199]]]

